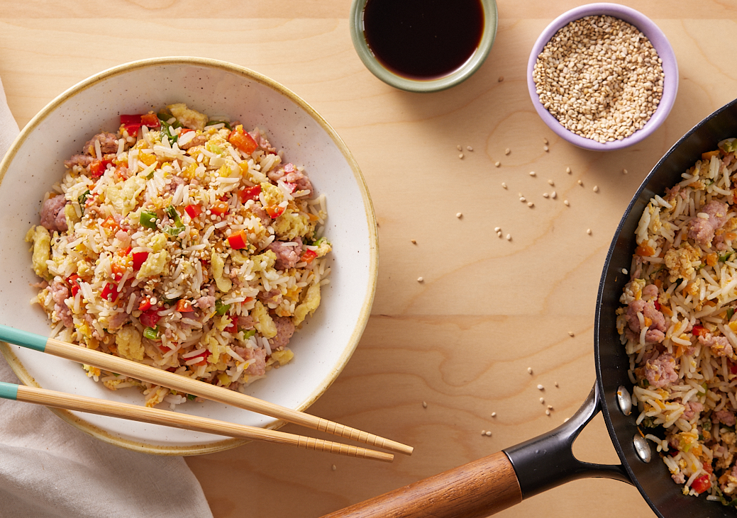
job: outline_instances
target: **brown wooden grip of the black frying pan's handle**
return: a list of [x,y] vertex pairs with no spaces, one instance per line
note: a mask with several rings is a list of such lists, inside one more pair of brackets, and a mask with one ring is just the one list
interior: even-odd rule
[[323,518],[482,518],[520,502],[514,467],[499,452]]

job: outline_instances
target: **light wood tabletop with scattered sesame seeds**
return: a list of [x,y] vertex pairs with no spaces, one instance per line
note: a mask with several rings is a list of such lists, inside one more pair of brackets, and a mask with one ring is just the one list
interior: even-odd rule
[[[380,224],[374,308],[352,360],[310,411],[412,444],[415,452],[379,464],[251,443],[188,458],[215,517],[319,517],[551,430],[584,402],[595,379],[593,317],[609,241],[663,152],[737,94],[737,5],[622,2],[666,33],[680,90],[654,135],[597,154],[555,138],[525,86],[537,35],[583,3],[498,0],[499,31],[482,68],[450,91],[418,95],[384,85],[360,63],[348,0],[4,2],[0,79],[21,125],[109,66],[162,55],[212,57],[302,96],[343,137],[366,177]],[[473,151],[461,160],[458,145]],[[553,190],[557,199],[542,197]],[[497,238],[495,227],[511,241]],[[574,452],[585,461],[617,461],[601,416]],[[632,486],[591,479],[497,516],[653,514]]]

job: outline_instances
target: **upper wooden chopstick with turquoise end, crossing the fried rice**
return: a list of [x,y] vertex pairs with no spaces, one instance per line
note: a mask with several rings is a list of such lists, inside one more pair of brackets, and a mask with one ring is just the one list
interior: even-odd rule
[[108,355],[105,352],[69,344],[55,338],[46,338],[45,336],[0,324],[0,340],[32,350],[47,352],[60,358],[66,358],[67,360],[85,363],[86,365],[95,366],[106,371],[134,377],[136,380],[156,383],[156,385],[173,388],[186,394],[193,394],[208,400],[254,411],[258,414],[276,417],[276,419],[282,419],[295,425],[312,428],[312,430],[332,433],[332,435],[345,439],[352,439],[364,444],[385,448],[386,450],[405,453],[406,455],[411,455],[413,452],[413,447],[407,444],[385,439],[373,433],[340,425],[328,419],[322,419],[321,417],[305,414],[304,412],[292,410],[291,408],[285,408],[268,401],[259,400],[256,397],[241,394],[228,388],[193,380],[189,377],[176,375],[173,372],[167,372],[156,367],[144,365],[143,363],[136,363],[135,361],[118,356]]

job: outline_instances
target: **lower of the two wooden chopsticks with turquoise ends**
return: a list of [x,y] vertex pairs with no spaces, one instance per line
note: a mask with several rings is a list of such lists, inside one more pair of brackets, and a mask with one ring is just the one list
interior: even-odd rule
[[153,425],[172,426],[184,428],[184,430],[195,430],[198,432],[215,433],[221,436],[237,437],[240,439],[256,439],[277,444],[288,444],[304,448],[306,450],[317,450],[321,452],[337,453],[348,457],[368,458],[375,461],[391,462],[394,455],[391,453],[377,452],[363,447],[349,446],[338,442],[324,441],[312,437],[298,436],[293,433],[280,432],[278,430],[267,430],[254,426],[236,425],[231,422],[217,421],[207,417],[179,414],[158,408],[147,408],[129,403],[98,400],[94,397],[77,396],[48,390],[46,388],[35,388],[0,381],[0,397],[8,400],[24,401],[36,405],[50,406],[53,408],[66,408],[87,412],[89,414],[100,414],[102,416],[119,417],[121,419],[132,419],[133,421],[148,422]]

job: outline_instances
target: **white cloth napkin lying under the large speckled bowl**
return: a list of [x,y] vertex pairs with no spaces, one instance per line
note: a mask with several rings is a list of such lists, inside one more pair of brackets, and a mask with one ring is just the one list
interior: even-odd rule
[[[0,157],[18,135],[0,82]],[[71,154],[71,152],[70,152]],[[0,381],[20,383],[0,358]],[[181,457],[112,446],[47,408],[0,400],[0,518],[212,518]]]

